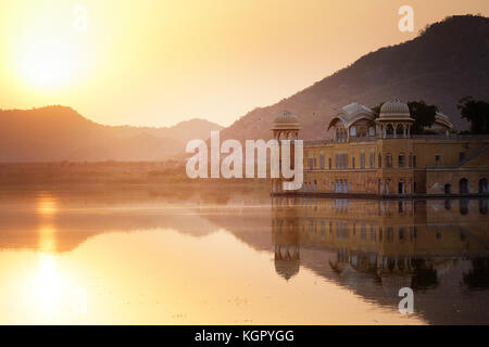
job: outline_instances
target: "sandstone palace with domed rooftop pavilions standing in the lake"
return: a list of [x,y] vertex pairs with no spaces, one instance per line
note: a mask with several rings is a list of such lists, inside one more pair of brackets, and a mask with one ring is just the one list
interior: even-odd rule
[[[441,113],[431,134],[412,134],[413,123],[408,104],[398,99],[386,102],[378,117],[356,102],[341,107],[329,124],[318,125],[333,129],[333,139],[304,141],[304,183],[294,194],[488,194],[488,136],[455,134]],[[272,130],[277,140],[293,140],[300,125],[284,112]],[[272,180],[272,194],[290,193],[281,181]]]

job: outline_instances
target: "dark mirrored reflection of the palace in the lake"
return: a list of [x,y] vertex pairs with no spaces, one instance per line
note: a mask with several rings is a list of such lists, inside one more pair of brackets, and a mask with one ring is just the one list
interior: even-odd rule
[[273,206],[275,267],[285,279],[306,267],[384,305],[411,287],[435,323],[488,322],[487,293],[464,299],[489,288],[487,200],[275,197]]

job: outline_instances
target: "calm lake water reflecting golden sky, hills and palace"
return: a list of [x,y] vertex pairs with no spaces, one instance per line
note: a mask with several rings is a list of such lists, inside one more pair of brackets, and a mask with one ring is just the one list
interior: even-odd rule
[[487,209],[2,192],[0,323],[488,324]]

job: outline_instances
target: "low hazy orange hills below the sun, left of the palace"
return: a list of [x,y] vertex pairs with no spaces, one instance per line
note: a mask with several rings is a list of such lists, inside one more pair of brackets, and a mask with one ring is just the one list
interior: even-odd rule
[[191,119],[173,127],[112,127],[65,106],[0,111],[0,162],[163,160],[221,126]]

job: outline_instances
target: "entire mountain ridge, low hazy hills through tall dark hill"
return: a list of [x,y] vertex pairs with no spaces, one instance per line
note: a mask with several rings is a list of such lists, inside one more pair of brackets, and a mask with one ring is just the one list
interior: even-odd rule
[[[296,114],[301,138],[327,139],[336,111],[353,101],[366,106],[393,97],[439,106],[459,130],[456,110],[465,95],[489,99],[489,18],[459,15],[431,24],[416,38],[367,53],[349,66],[229,127],[197,118],[172,127],[106,126],[67,106],[0,110],[0,162],[164,160],[185,152],[191,139],[269,139],[273,119]],[[145,134],[145,136],[141,136]],[[151,144],[151,145],[149,145]]]

